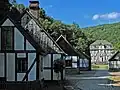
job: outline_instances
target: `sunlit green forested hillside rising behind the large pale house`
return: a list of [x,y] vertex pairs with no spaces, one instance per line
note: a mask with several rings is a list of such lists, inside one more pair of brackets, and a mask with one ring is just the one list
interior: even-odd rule
[[116,49],[120,49],[120,23],[83,28],[82,31],[86,36],[92,35],[94,40],[107,40],[111,42]]

